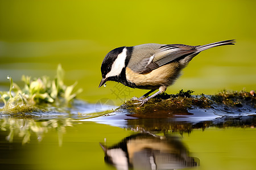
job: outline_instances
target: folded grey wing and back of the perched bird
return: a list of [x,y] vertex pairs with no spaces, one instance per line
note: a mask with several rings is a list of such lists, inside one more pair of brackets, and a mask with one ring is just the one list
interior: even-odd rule
[[[146,46],[146,45],[145,45]],[[137,61],[128,65],[136,73],[146,74],[160,66],[176,61],[197,51],[197,46],[171,44],[171,45],[147,45],[147,48],[139,46],[136,54]],[[139,59],[138,59],[139,58]]]

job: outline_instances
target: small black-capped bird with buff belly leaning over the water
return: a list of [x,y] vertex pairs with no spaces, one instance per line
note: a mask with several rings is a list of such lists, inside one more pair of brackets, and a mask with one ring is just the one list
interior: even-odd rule
[[[101,87],[106,81],[115,81],[131,88],[150,90],[136,98],[141,106],[152,97],[166,91],[180,76],[180,71],[201,51],[221,45],[234,45],[234,40],[207,45],[142,44],[122,46],[111,50],[101,64]],[[155,90],[155,94],[147,97]],[[143,99],[147,97],[146,99]]]

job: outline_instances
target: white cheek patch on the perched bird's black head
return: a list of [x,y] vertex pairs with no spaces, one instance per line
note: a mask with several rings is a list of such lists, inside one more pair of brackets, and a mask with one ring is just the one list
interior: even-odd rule
[[112,64],[112,68],[106,77],[117,76],[121,73],[122,69],[125,67],[125,59],[126,59],[127,49],[124,48],[122,53],[118,54],[117,59]]

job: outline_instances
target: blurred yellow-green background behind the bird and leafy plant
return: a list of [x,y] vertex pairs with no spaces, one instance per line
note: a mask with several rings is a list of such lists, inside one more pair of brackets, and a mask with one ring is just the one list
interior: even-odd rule
[[255,90],[256,1],[0,1],[0,90],[10,75],[55,76],[79,82],[79,98],[115,104],[146,90],[108,82],[98,88],[102,59],[119,46],[145,43],[204,45],[236,39],[195,57],[168,93]]

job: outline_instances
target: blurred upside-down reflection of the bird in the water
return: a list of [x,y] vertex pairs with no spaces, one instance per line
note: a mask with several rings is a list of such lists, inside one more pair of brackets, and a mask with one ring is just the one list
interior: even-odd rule
[[160,139],[151,134],[136,134],[115,146],[101,147],[105,152],[105,162],[118,170],[177,169],[199,164],[198,159],[187,155],[186,148],[177,137]]

